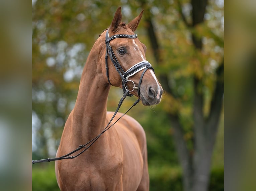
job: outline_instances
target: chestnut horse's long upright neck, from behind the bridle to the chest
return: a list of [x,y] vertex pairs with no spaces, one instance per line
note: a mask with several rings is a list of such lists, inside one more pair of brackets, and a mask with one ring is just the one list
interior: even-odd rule
[[73,111],[72,133],[79,144],[96,137],[106,126],[107,97],[110,86],[102,77],[98,51],[88,56]]

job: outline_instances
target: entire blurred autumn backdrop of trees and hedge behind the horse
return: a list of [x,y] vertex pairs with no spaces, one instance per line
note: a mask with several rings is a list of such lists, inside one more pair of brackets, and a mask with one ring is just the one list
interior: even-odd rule
[[[126,23],[144,9],[136,33],[164,89],[159,105],[128,113],[146,132],[150,190],[224,190],[224,0],[32,0],[32,159],[55,157],[87,56],[119,6]],[[111,88],[108,110],[122,93]],[[54,162],[32,165],[32,189],[59,190]]]

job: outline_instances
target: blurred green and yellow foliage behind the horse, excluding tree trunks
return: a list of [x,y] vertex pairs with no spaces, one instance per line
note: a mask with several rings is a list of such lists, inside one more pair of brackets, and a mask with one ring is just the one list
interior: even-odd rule
[[[167,75],[170,79],[172,94],[165,92],[156,107],[146,108],[139,103],[128,114],[138,120],[146,132],[150,190],[178,191],[182,190],[182,178],[180,168],[173,167],[179,163],[169,114],[178,113],[183,138],[193,151],[193,76],[202,80],[200,91],[205,97],[203,109],[207,116],[215,89],[215,71],[224,54],[223,8],[213,0],[208,3],[205,22],[193,29],[184,25],[177,11],[177,1],[36,1],[32,6],[32,110],[38,120],[33,124],[33,145],[36,145],[33,159],[54,156],[64,123],[76,100],[84,63],[98,36],[110,25],[116,8],[122,6],[123,21],[129,22],[142,10],[143,2],[144,16],[136,33],[147,46],[146,57],[156,75]],[[186,8],[189,2],[182,1]],[[190,22],[189,9],[185,12]],[[149,14],[157,29],[160,64],[154,59],[145,31],[145,18]],[[192,33],[203,37],[202,51],[193,46]],[[72,74],[72,78],[67,78],[67,74]],[[122,90],[111,88],[108,110],[115,110],[121,96]],[[120,111],[125,112],[135,100],[127,98]],[[223,133],[218,135],[217,145],[214,167],[222,168]],[[33,190],[58,190],[53,166],[33,166],[32,175]],[[213,170],[210,190],[222,190],[222,180],[223,170]]]

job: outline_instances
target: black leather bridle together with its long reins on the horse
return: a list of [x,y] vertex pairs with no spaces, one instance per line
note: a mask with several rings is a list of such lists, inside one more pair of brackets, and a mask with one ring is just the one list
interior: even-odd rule
[[[138,97],[140,97],[140,85],[141,85],[141,82],[142,82],[142,78],[146,72],[147,69],[152,69],[154,71],[154,69],[152,68],[151,64],[148,62],[148,61],[142,61],[142,62],[139,62],[137,64],[135,64],[134,66],[132,66],[130,69],[128,69],[126,72],[124,72],[122,66],[119,64],[113,50],[112,50],[112,47],[110,46],[109,42],[112,40],[112,39],[115,39],[115,38],[137,38],[137,34],[135,35],[125,35],[125,34],[118,34],[118,35],[113,35],[111,37],[109,37],[109,32],[107,30],[106,32],[106,40],[105,40],[105,43],[106,43],[106,55],[105,55],[105,64],[106,64],[106,75],[107,75],[107,78],[108,78],[108,82],[110,85],[112,85],[110,83],[110,80],[109,80],[109,68],[108,68],[108,55],[112,61],[112,63],[114,64],[115,68],[116,68],[116,71],[118,72],[118,74],[120,75],[121,79],[122,79],[122,88],[123,88],[123,92],[124,92],[124,95],[121,97],[119,103],[118,103],[118,106],[116,108],[116,111],[114,113],[114,115],[112,116],[112,118],[110,119],[110,121],[108,122],[107,126],[104,128],[104,130],[98,135],[96,136],[94,139],[90,140],[89,142],[87,142],[86,144],[83,144],[83,145],[79,145],[79,147],[73,151],[71,151],[70,153],[66,154],[66,155],[63,155],[63,156],[60,156],[60,157],[57,157],[57,158],[47,158],[47,159],[39,159],[39,160],[32,160],[32,164],[35,164],[35,163],[41,163],[41,162],[50,162],[50,161],[56,161],[56,160],[63,160],[63,159],[74,159],[76,157],[78,157],[79,155],[81,155],[83,152],[85,152],[88,148],[90,148],[94,143],[95,141],[97,141],[97,139],[104,133],[106,132],[108,129],[110,129],[119,119],[121,119],[133,106],[135,106],[139,101],[140,101],[140,98],[138,98],[133,104],[132,106],[121,116],[119,117],[112,125],[110,125],[110,123],[112,122],[112,120],[114,119],[114,117],[116,116],[119,108],[121,107],[124,99],[126,98],[126,96],[132,96],[133,94],[130,94],[130,92],[134,91],[134,90],[137,90],[138,91]],[[135,84],[133,81],[131,80],[128,80],[131,76],[135,75],[136,73],[142,71],[142,74],[141,74],[141,77],[140,77],[140,81],[139,81],[139,84],[135,87]],[[131,82],[133,84],[133,89],[132,90],[129,90],[128,89],[128,86],[126,85],[127,82]],[[109,126],[110,125],[110,126]],[[84,148],[84,149],[83,149]],[[80,153],[74,155],[74,156],[71,156],[73,153],[79,151],[83,149]]]

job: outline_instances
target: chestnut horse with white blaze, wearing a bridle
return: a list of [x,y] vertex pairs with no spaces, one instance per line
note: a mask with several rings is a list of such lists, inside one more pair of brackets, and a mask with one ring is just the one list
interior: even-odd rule
[[[141,13],[128,24],[122,22],[119,7],[109,28],[99,36],[88,55],[74,109],[63,129],[56,157],[99,135],[113,116],[107,111],[111,85],[143,105],[158,104],[163,89],[146,61],[146,46],[134,31]],[[113,64],[109,64],[109,63]],[[126,71],[126,72],[125,72]],[[115,119],[121,117],[117,113]],[[149,190],[146,136],[142,126],[124,115],[82,155],[55,161],[61,191]]]

